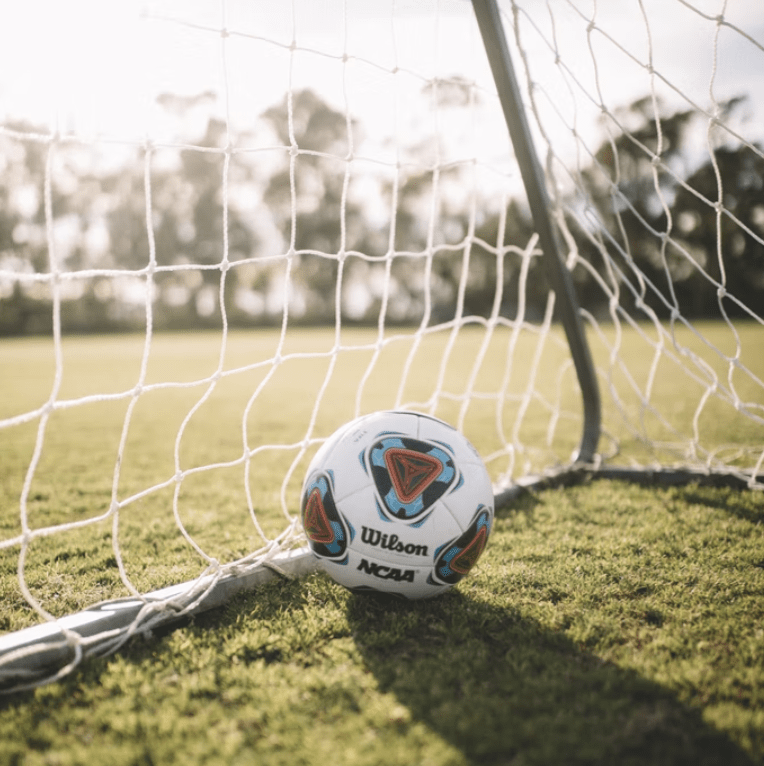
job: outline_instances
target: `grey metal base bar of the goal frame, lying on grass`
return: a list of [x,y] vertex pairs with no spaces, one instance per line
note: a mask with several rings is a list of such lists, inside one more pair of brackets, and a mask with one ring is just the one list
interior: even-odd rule
[[[496,509],[506,508],[526,493],[570,487],[595,479],[645,486],[727,486],[737,490],[764,488],[764,474],[711,473],[690,468],[599,467],[575,464],[544,474],[524,476],[498,489]],[[251,567],[251,565],[249,565]],[[310,548],[293,548],[242,572],[203,574],[196,580],[147,593],[103,601],[81,612],[0,636],[0,694],[26,691],[58,680],[85,657],[116,652],[131,638],[171,627],[184,618],[223,606],[235,595],[274,577],[300,577],[320,570]]]

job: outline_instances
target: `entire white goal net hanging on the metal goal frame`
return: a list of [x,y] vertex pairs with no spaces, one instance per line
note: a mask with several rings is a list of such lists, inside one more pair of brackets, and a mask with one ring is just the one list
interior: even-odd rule
[[504,1],[513,110],[490,3],[22,5],[5,688],[310,569],[304,470],[370,411],[460,428],[499,500],[571,470],[764,487],[764,13]]

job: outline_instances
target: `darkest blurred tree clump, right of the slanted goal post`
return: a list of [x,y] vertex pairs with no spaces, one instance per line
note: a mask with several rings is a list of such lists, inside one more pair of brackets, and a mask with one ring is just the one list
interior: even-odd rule
[[[739,103],[740,99],[732,99],[722,104],[723,116]],[[620,132],[603,141],[581,173],[590,212],[597,220],[588,230],[576,230],[581,256],[603,278],[612,280],[600,254],[608,252],[620,270],[611,287],[629,310],[636,294],[638,302],[662,317],[670,315],[674,304],[688,317],[718,317],[714,281],[723,281],[718,258],[722,252],[727,289],[755,306],[761,301],[764,261],[761,243],[749,232],[758,231],[759,236],[762,232],[761,150],[725,145],[715,150],[715,160],[698,165],[690,138],[693,129],[705,126],[696,124],[693,112],[656,115],[652,99],[644,98],[616,117]],[[656,156],[660,163],[654,162]],[[717,201],[726,210],[720,218],[721,250]],[[576,208],[578,203],[569,205]],[[590,275],[579,269],[577,277],[582,303],[590,310],[596,311],[597,304],[601,308],[606,299],[593,289]],[[625,281],[630,290],[624,289]],[[730,310],[739,313],[734,304]]]

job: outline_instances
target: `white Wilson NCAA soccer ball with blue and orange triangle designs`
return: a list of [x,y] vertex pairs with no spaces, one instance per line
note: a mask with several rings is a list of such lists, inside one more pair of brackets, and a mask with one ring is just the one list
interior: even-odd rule
[[467,439],[416,412],[376,412],[319,449],[302,523],[325,571],[353,591],[445,592],[472,569],[493,526],[493,490]]

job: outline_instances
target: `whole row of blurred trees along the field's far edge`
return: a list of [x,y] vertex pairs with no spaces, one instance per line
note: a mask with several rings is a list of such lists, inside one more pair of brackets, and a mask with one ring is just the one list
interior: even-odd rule
[[[732,112],[739,101],[723,106]],[[8,125],[0,134],[0,334],[51,327],[50,281],[35,279],[50,271],[44,189],[49,163],[54,257],[59,270],[71,275],[59,279],[66,331],[141,329],[147,299],[156,329],[219,327],[221,296],[232,326],[279,323],[285,305],[292,321],[330,323],[338,300],[348,322],[376,324],[384,309],[388,323],[420,323],[423,317],[435,323],[457,310],[488,316],[495,310],[498,274],[499,310],[515,315],[521,260],[506,255],[499,271],[495,247],[502,229],[505,245],[516,252],[526,247],[533,225],[522,199],[510,199],[504,211],[486,204],[473,216],[462,284],[460,243],[471,224],[459,195],[449,190],[464,186],[466,166],[440,173],[437,219],[430,226],[431,170],[380,176],[374,188],[359,191],[353,174],[346,174],[346,115],[310,90],[293,94],[291,110],[290,122],[285,99],[267,109],[260,123],[275,145],[296,144],[300,152],[271,153],[265,163],[262,152],[226,155],[230,137],[216,119],[186,149],[153,149],[147,161],[146,148],[132,147],[110,163],[94,160],[93,147],[74,142],[60,142],[49,154],[47,142],[25,138],[36,132],[33,126]],[[604,139],[578,170],[575,183],[589,209],[582,209],[580,197],[563,200],[581,259],[573,276],[582,306],[598,315],[608,310],[609,296],[594,272],[609,281],[627,311],[648,305],[666,317],[678,306],[690,318],[717,317],[719,283],[741,303],[760,306],[761,147],[726,143],[713,158],[693,161],[690,139],[698,126],[692,112],[662,115],[658,124],[651,102],[643,100],[623,114],[630,129]],[[354,136],[363,134],[362,125],[352,128]],[[654,172],[658,150],[662,167]],[[434,253],[429,261],[422,256],[428,247]],[[403,255],[390,260],[392,250]],[[613,258],[609,268],[604,250]],[[289,258],[276,257],[287,252]],[[347,254],[341,265],[326,255],[340,252]],[[156,270],[147,296],[141,270],[152,257]],[[546,281],[538,258],[526,265],[526,312],[538,316]],[[721,300],[728,314],[745,314],[737,302]]]

